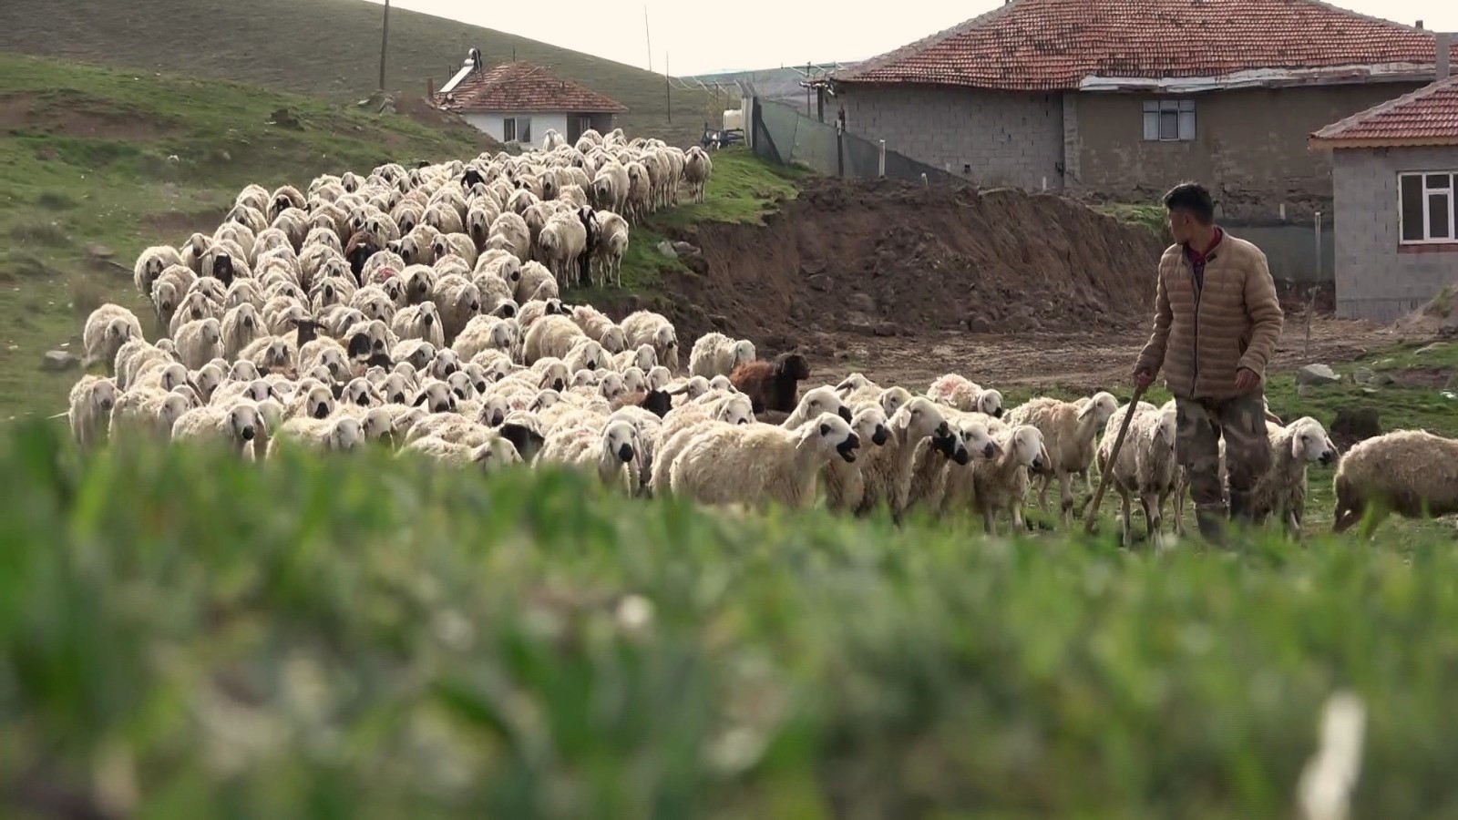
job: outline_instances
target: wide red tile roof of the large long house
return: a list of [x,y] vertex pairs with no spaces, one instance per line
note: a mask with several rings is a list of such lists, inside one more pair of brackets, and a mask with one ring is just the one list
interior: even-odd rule
[[1072,90],[1089,76],[1226,77],[1392,64],[1424,69],[1432,79],[1435,58],[1432,32],[1318,0],[1013,0],[831,79]]

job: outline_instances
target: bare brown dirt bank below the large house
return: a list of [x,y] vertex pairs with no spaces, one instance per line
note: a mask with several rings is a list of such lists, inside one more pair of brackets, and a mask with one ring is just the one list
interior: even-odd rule
[[671,276],[679,333],[1069,331],[1146,321],[1162,242],[1053,194],[814,179],[764,226],[704,223],[703,274]]

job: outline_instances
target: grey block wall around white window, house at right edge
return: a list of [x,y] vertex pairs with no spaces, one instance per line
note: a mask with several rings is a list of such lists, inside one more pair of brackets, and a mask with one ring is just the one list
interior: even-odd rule
[[1458,285],[1458,244],[1398,251],[1398,172],[1445,169],[1458,147],[1333,152],[1338,317],[1391,322]]

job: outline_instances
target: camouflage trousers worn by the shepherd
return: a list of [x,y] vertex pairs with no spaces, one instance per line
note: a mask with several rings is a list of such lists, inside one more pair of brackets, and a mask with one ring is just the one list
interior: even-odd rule
[[1196,512],[1225,509],[1220,481],[1220,439],[1225,439],[1225,473],[1231,484],[1232,514],[1271,460],[1266,436],[1266,400],[1261,391],[1226,400],[1175,398],[1175,457],[1190,474],[1190,500]]

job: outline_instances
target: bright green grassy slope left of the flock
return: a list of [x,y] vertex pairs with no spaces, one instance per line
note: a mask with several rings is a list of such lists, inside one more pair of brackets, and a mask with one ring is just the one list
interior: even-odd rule
[[[280,108],[303,130],[271,125]],[[80,355],[98,305],[125,305],[153,337],[137,254],[211,233],[248,182],[474,156],[478,139],[255,86],[0,54],[0,420],[64,410],[76,374],[36,368],[48,349]]]

